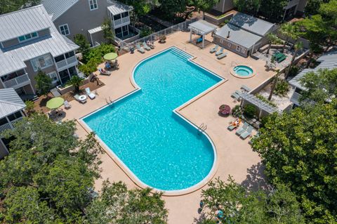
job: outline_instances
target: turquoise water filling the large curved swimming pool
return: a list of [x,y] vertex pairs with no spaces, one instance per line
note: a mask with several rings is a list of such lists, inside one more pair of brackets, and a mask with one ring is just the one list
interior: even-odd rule
[[139,180],[159,190],[196,185],[214,162],[209,139],[173,112],[221,80],[190,57],[170,48],[141,62],[134,71],[140,91],[83,119]]

